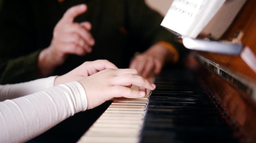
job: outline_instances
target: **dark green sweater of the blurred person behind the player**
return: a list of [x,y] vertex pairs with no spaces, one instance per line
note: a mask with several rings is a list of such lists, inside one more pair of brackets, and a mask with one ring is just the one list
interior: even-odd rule
[[70,55],[54,75],[96,59],[108,59],[126,68],[135,52],[143,52],[158,41],[174,42],[174,35],[160,26],[163,17],[144,0],[3,0],[0,84],[36,79],[38,54],[50,45],[54,26],[68,8],[81,3],[88,5],[88,11],[75,21],[91,22],[96,44],[90,54]]

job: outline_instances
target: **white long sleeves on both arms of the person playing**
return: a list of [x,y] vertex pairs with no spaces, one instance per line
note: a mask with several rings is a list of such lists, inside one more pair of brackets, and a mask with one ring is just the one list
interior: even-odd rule
[[83,86],[54,86],[55,76],[0,85],[0,143],[21,143],[49,130],[88,106]]

